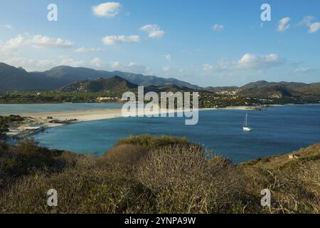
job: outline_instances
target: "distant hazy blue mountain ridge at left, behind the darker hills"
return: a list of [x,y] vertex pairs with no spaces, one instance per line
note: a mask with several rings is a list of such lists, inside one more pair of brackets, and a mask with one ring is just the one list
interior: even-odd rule
[[199,88],[196,85],[179,81],[175,78],[144,76],[142,74],[122,71],[96,71],[90,68],[57,66],[49,71],[27,72],[23,68],[16,68],[6,63],[0,63],[0,81],[2,82],[0,84],[0,91],[55,90],[68,86],[74,81],[111,78],[115,75],[139,86],[176,85],[193,89]]

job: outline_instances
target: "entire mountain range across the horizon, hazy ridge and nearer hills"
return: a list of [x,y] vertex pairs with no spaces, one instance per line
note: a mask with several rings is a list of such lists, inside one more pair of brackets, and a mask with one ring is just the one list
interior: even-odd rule
[[144,76],[122,71],[96,71],[70,66],[57,66],[43,72],[27,72],[23,68],[0,63],[0,81],[0,92],[62,90],[119,93],[124,90],[135,90],[137,86],[146,86],[146,90],[155,92],[207,90],[213,93],[233,93],[252,98],[320,98],[320,83],[257,81],[241,87],[201,88],[175,78]]

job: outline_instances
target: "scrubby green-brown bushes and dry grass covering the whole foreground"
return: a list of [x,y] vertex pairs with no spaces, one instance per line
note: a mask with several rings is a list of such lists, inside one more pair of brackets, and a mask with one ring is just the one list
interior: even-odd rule
[[[320,143],[233,165],[186,138],[119,140],[103,157],[0,143],[0,213],[319,213]],[[49,189],[58,207],[48,207]],[[260,205],[262,189],[271,207]]]

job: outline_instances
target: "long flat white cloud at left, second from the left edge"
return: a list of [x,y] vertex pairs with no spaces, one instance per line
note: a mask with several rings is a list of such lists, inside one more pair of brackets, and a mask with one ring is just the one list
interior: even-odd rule
[[71,41],[42,35],[35,35],[25,43],[26,45],[31,45],[34,48],[70,48],[73,46]]

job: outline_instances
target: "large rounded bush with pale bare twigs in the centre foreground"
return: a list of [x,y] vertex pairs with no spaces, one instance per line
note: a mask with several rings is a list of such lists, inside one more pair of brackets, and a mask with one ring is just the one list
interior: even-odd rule
[[213,213],[232,207],[241,178],[235,179],[228,162],[210,162],[205,154],[198,145],[171,145],[151,150],[140,162],[137,180],[156,195],[157,212]]

